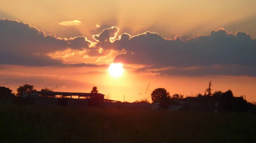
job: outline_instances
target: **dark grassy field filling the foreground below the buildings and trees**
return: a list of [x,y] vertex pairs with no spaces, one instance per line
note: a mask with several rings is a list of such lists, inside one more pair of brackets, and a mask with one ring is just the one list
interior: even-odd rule
[[256,143],[256,115],[0,105],[1,143]]

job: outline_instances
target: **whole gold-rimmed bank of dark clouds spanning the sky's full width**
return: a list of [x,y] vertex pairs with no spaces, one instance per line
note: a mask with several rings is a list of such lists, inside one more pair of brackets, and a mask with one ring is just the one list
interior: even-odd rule
[[135,69],[138,73],[256,76],[256,41],[245,32],[231,34],[219,28],[189,39],[180,36],[167,39],[149,31],[117,36],[118,32],[116,26],[106,28],[93,35],[95,42],[92,42],[84,36],[57,38],[23,22],[0,20],[0,64],[97,67],[86,64],[85,59],[81,63],[63,64],[62,59],[52,59],[48,53],[71,49],[90,57],[106,58],[114,50],[118,54],[113,62],[143,65]]

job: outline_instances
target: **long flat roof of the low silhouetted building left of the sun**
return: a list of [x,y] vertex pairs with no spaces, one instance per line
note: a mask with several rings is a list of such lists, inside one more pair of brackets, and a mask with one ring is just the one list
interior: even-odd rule
[[[89,96],[91,93],[67,93],[67,92],[44,92],[44,91],[35,91],[30,93],[30,95],[63,95],[63,96],[81,96],[81,97],[86,97]],[[97,93],[97,95],[103,95],[101,93]]]

